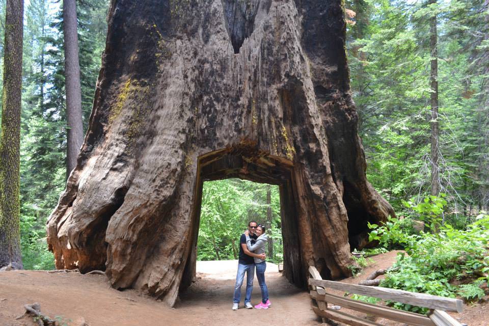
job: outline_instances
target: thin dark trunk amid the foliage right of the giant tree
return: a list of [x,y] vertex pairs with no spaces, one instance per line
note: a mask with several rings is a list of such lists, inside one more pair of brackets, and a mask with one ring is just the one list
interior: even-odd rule
[[[436,5],[437,0],[429,0],[430,5]],[[429,47],[431,57],[431,69],[429,83],[431,88],[431,196],[440,194],[440,147],[439,147],[439,123],[438,123],[438,35],[437,15],[430,18]]]

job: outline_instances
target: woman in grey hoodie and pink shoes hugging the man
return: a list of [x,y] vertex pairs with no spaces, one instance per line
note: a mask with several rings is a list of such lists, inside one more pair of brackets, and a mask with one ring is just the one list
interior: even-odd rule
[[[251,244],[251,238],[248,231],[244,232],[246,235],[246,246],[249,251],[254,252],[255,254],[262,254],[265,252],[266,242],[268,240],[265,234],[265,227],[261,224],[258,224],[256,228],[255,235],[258,236],[255,244]],[[265,259],[255,258],[255,266],[256,266],[256,278],[258,279],[258,284],[260,284],[261,288],[261,303],[256,305],[256,309],[268,309],[271,306],[270,301],[268,300],[268,288],[265,284],[265,269],[266,262]]]

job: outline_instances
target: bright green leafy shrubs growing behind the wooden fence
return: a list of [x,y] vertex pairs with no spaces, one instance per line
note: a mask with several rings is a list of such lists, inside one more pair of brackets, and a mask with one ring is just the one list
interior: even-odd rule
[[[406,254],[399,253],[396,263],[381,286],[411,292],[455,297],[467,300],[483,296],[479,288],[487,277],[478,277],[489,271],[489,215],[480,214],[465,230],[454,229],[441,215],[446,201],[429,197],[411,207],[420,214],[432,233],[405,234],[401,222],[389,218],[383,226],[370,225],[371,240],[378,240],[384,248],[401,246]],[[375,232],[374,232],[375,231]],[[486,275],[486,274],[485,274]],[[465,279],[471,283],[454,286],[454,280]],[[477,290],[479,288],[479,290]],[[398,309],[426,313],[426,308],[391,303]]]

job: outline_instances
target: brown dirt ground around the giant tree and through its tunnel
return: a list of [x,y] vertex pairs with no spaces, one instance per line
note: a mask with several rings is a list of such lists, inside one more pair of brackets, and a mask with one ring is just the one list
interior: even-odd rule
[[[389,267],[396,252],[372,257],[372,264],[356,278],[343,280],[356,284],[373,270]],[[117,291],[105,276],[78,273],[18,270],[0,272],[0,325],[35,325],[30,317],[21,316],[23,305],[39,303],[43,314],[60,320],[61,325],[134,326],[134,325],[319,325],[321,319],[311,310],[307,291],[296,288],[278,272],[277,265],[267,264],[266,282],[272,306],[268,310],[232,311],[236,261],[198,262],[197,282],[180,293],[174,308],[135,290]],[[242,287],[244,292],[244,286]],[[340,293],[343,294],[343,293]],[[244,296],[244,293],[243,293]],[[242,297],[243,297],[242,296]],[[260,301],[255,279],[252,303]],[[342,311],[347,312],[346,309]],[[469,326],[489,326],[489,305],[466,307],[452,314]],[[383,319],[385,325],[401,325]]]

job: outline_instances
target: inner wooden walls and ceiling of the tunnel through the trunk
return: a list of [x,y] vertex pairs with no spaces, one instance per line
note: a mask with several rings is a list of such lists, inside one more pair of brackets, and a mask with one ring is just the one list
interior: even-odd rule
[[[293,163],[283,157],[274,157],[253,151],[222,149],[198,158],[195,202],[192,220],[192,251],[188,254],[181,289],[191,285],[195,277],[197,238],[200,225],[202,189],[205,181],[239,178],[259,183],[275,184],[280,190],[280,215],[284,248],[284,276],[298,287],[305,286],[305,270],[301,257],[296,191]],[[246,226],[243,226],[245,228]]]

